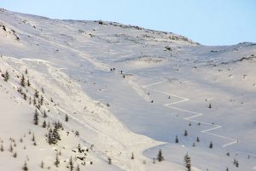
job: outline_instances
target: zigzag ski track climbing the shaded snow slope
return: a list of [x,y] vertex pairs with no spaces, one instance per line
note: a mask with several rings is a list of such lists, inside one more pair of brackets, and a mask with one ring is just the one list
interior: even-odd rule
[[157,82],[157,83],[150,83],[150,84],[144,85],[143,88],[146,88],[146,89],[148,89],[148,90],[154,91],[154,92],[159,93],[159,94],[166,94],[166,95],[170,95],[170,96],[172,96],[172,97],[176,97],[176,98],[181,99],[181,100],[178,100],[178,101],[176,101],[176,102],[167,103],[167,104],[164,104],[164,105],[165,105],[166,107],[175,109],[175,110],[177,110],[177,111],[184,111],[184,112],[186,112],[186,113],[194,114],[192,117],[184,117],[184,118],[183,118],[184,120],[188,120],[188,121],[191,121],[191,122],[194,122],[194,123],[201,123],[201,124],[208,125],[208,126],[213,126],[213,128],[201,130],[201,133],[203,133],[203,134],[210,134],[210,135],[212,135],[212,136],[216,136],[216,137],[222,138],[222,139],[224,139],[224,140],[230,140],[230,141],[231,141],[230,143],[227,143],[227,144],[222,145],[223,148],[238,143],[238,140],[232,139],[232,138],[230,138],[230,137],[226,137],[226,136],[223,136],[223,135],[210,133],[210,131],[216,130],[216,129],[218,129],[218,128],[222,128],[222,126],[220,126],[220,125],[218,125],[218,124],[214,124],[214,125],[213,125],[212,123],[201,122],[201,121],[195,119],[196,117],[201,117],[201,116],[204,116],[205,114],[199,113],[199,112],[195,112],[195,111],[189,111],[189,110],[185,110],[185,109],[182,109],[182,108],[177,108],[177,107],[175,107],[175,106],[172,106],[172,105],[176,105],[176,104],[179,104],[179,103],[183,103],[183,102],[189,101],[188,98],[184,98],[184,97],[181,97],[181,96],[178,96],[178,95],[175,95],[175,94],[169,94],[169,93],[166,93],[166,92],[163,92],[163,91],[159,91],[159,90],[154,90],[154,89],[152,90],[152,89],[150,89],[150,87],[152,87],[152,86],[154,86],[154,85],[159,85],[159,84],[161,84],[161,83],[166,83],[167,81],[168,81],[168,80],[165,79],[165,80],[160,81],[160,82]]

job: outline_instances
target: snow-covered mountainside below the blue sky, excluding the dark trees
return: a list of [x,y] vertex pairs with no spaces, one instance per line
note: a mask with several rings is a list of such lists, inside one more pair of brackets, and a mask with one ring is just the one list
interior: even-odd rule
[[[71,156],[81,155],[79,144],[88,150],[85,166],[74,160],[81,170],[185,170],[186,152],[194,170],[256,167],[256,44],[206,47],[136,26],[4,9],[0,41],[1,74],[10,75],[8,82],[0,79],[0,170],[20,170],[25,161],[30,170],[41,169],[41,161],[44,168],[65,170]],[[22,74],[32,84],[22,88],[27,100],[17,92]],[[28,99],[35,89],[44,96],[46,122],[63,124],[57,145],[48,145],[42,115],[39,126],[32,123],[35,107]],[[165,161],[152,163],[159,149]]]

